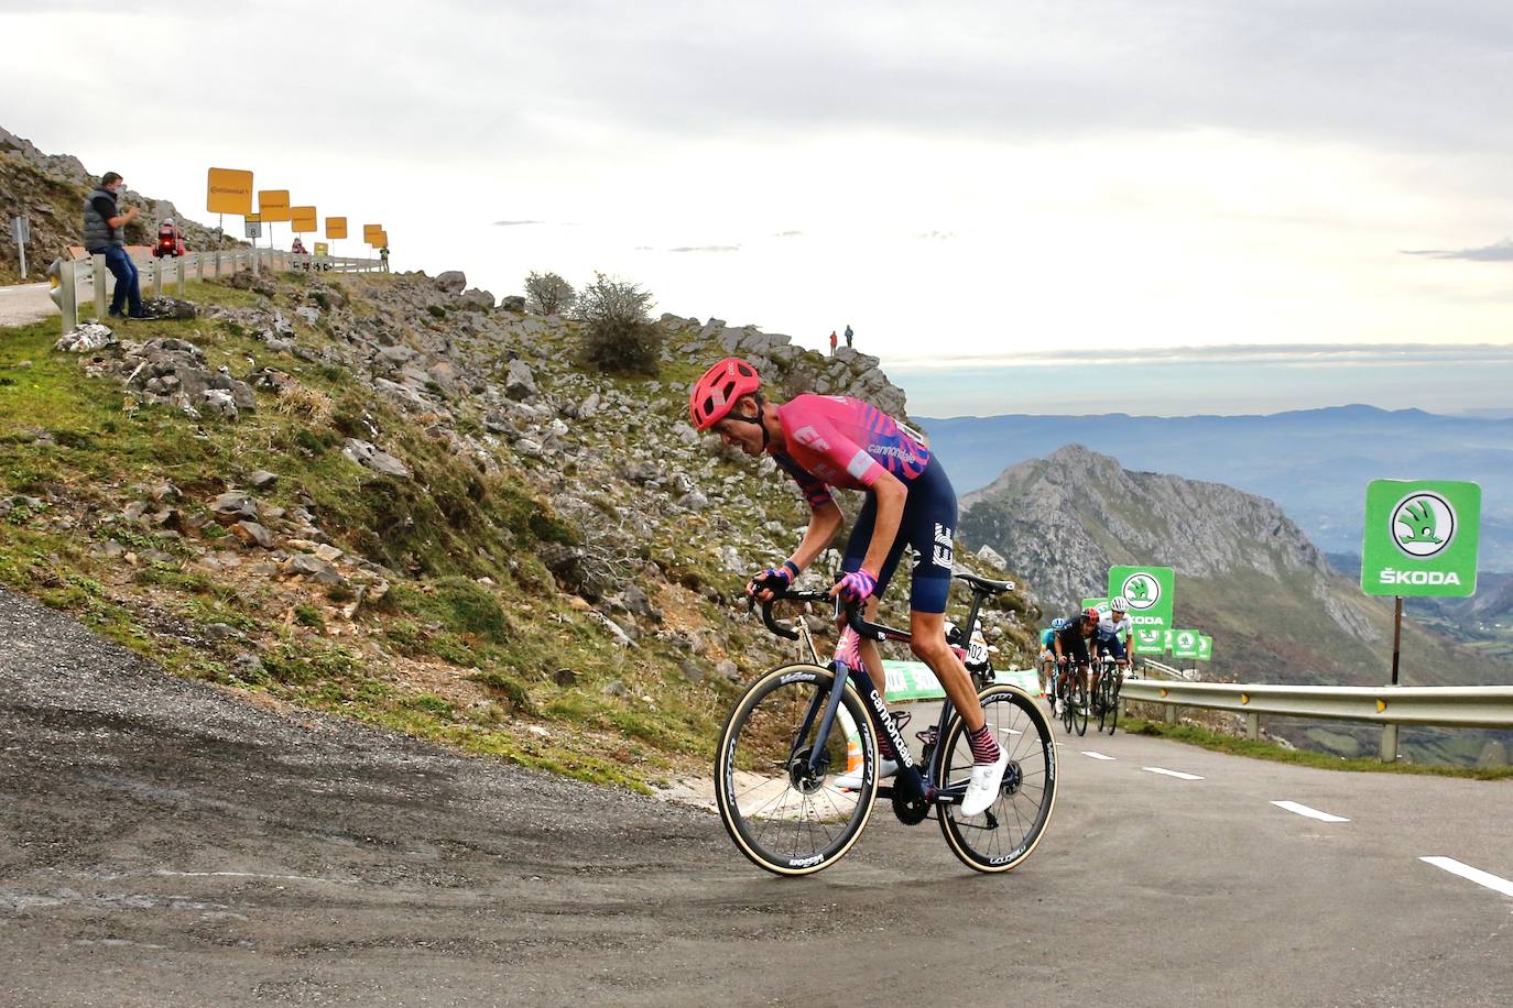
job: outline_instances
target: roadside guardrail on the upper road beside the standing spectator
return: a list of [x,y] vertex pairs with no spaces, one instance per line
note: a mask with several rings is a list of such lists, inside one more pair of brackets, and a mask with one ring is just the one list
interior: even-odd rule
[[[230,248],[162,258],[133,258],[138,283],[147,296],[162,296],[166,286],[185,293],[189,280],[213,280],[245,272],[280,272],[307,269],[334,274],[371,274],[384,267],[380,258],[353,258],[348,255],[297,255],[272,248]],[[79,298],[85,287],[91,289],[95,317],[104,317],[106,302],[113,286],[113,275],[104,264],[104,255],[79,260],[59,260],[48,271],[56,281],[54,299],[64,316],[64,332],[79,326]]]

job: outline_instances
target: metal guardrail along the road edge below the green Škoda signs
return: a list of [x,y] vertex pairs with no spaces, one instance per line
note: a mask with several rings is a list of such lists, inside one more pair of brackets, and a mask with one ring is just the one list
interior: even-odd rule
[[1513,686],[1285,686],[1274,683],[1124,680],[1124,700],[1229,710],[1260,737],[1260,716],[1322,718],[1381,725],[1381,760],[1396,760],[1398,725],[1513,728]]

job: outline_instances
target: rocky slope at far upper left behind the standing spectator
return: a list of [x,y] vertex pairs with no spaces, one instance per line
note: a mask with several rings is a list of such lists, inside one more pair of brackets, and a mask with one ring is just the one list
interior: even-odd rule
[[[109,166],[89,171],[73,154],[44,154],[36,147],[0,127],[0,218],[5,225],[5,240],[0,246],[0,284],[21,280],[15,257],[15,240],[11,236],[11,218],[26,216],[32,224],[32,239],[26,245],[27,278],[41,280],[47,264],[64,254],[67,246],[79,245],[85,196]],[[132,178],[126,180],[133,181]],[[126,228],[130,245],[150,245],[157,234],[157,225],[174,218],[189,239],[191,248],[215,248],[213,231],[183,218],[172,203],[153,199],[127,189],[121,206],[142,209],[142,216]],[[221,245],[239,245],[222,237]]]

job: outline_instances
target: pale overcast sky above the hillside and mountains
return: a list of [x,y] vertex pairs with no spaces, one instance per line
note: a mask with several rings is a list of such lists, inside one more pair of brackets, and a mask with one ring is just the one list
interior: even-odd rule
[[204,6],[0,0],[0,124],[495,295],[850,322],[921,414],[1082,413],[1067,354],[1130,411],[1513,399],[1505,0]]

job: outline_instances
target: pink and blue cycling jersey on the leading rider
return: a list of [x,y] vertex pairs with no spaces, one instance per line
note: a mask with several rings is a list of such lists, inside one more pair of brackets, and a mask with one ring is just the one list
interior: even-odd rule
[[867,490],[884,472],[905,485],[924,475],[930,450],[887,413],[852,396],[797,396],[778,407],[787,452],[778,462],[799,484],[811,508],[831,500],[831,487]]

